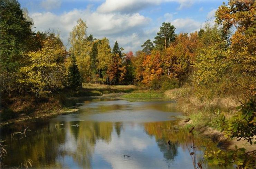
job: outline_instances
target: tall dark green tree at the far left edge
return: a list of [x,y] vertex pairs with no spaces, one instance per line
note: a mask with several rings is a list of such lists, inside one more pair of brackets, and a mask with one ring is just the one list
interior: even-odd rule
[[0,90],[11,96],[18,91],[18,70],[25,64],[23,53],[32,38],[31,21],[27,21],[16,0],[0,1]]

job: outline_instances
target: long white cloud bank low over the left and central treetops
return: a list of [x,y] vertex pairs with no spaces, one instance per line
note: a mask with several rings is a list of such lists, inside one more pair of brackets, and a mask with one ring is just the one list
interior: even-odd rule
[[[88,34],[93,34],[96,38],[103,38],[104,36],[110,39],[113,44],[118,37],[126,37],[127,39],[133,39],[138,42],[141,35],[136,35],[134,32],[142,31],[141,29],[148,25],[151,21],[150,18],[144,17],[139,13],[134,14],[120,14],[120,13],[98,13],[97,11],[92,12],[89,8],[85,10],[74,9],[69,12],[62,13],[60,15],[52,12],[36,12],[31,14],[31,18],[34,21],[36,31],[48,31],[49,29],[60,33],[60,37],[64,44],[67,44],[69,32],[72,31],[76,25],[76,21],[82,18],[86,21]],[[132,38],[131,38],[132,37]],[[132,44],[126,40],[120,39],[118,43],[123,46],[125,52],[128,50],[134,50],[136,43]],[[143,42],[142,42],[143,43]],[[139,45],[140,47],[140,45]],[[138,47],[136,48],[138,49]]]

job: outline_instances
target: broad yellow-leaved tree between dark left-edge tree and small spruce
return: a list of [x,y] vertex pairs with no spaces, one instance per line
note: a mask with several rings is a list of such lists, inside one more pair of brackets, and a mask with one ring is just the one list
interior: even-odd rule
[[56,43],[59,41],[58,36],[50,34],[41,49],[26,54],[29,62],[19,69],[17,82],[36,96],[44,96],[65,87],[64,61],[67,52],[62,43]]

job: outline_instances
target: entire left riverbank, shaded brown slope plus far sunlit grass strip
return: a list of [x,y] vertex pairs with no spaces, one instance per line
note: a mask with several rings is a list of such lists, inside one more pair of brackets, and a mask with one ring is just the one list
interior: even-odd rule
[[83,84],[83,88],[72,91],[64,90],[50,96],[15,96],[2,101],[0,126],[23,120],[49,118],[60,114],[77,112],[76,102],[79,97],[120,97],[136,90],[134,85]]

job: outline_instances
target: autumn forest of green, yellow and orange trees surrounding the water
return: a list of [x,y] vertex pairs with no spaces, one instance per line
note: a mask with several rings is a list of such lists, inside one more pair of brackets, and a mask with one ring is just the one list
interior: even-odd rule
[[[154,41],[149,37],[142,50],[124,53],[117,41],[111,47],[106,37],[88,35],[81,18],[69,34],[69,46],[64,46],[58,33],[32,31],[28,11],[16,0],[0,0],[1,121],[37,109],[15,107],[20,102],[54,102],[57,95],[81,91],[86,84],[135,85],[146,92],[178,93],[190,104],[187,112],[215,112],[207,115],[209,121],[215,119],[212,126],[255,144],[256,2],[229,0],[215,17],[214,23],[206,22],[193,33],[177,34],[170,22],[163,22]],[[223,98],[241,104],[231,109]],[[218,103],[192,111],[193,101],[206,107]],[[199,118],[195,114],[190,117],[194,121]]]

